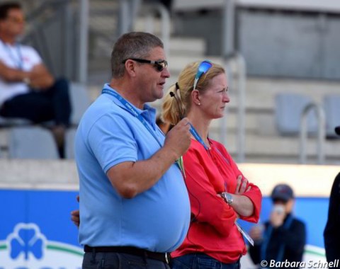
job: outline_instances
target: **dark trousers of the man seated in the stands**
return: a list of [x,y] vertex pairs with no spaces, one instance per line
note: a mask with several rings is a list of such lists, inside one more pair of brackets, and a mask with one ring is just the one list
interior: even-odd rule
[[52,120],[55,125],[69,125],[71,103],[69,84],[65,79],[58,79],[44,91],[30,91],[14,96],[0,109],[4,118],[25,118],[35,123]]

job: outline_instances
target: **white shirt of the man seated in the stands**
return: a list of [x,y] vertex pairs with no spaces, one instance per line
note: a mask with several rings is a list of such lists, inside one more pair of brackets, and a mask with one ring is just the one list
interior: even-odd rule
[[[0,61],[7,67],[31,71],[37,64],[42,63],[38,52],[21,44],[5,44],[0,41]],[[28,93],[29,87],[23,81],[6,82],[0,77],[0,105],[18,94]]]

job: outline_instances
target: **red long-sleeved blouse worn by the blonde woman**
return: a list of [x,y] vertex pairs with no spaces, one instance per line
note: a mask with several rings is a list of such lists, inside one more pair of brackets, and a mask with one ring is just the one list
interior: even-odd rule
[[[246,254],[242,234],[234,222],[236,212],[217,193],[235,193],[237,176],[242,175],[225,147],[210,139],[210,149],[191,139],[191,147],[183,156],[186,186],[191,202],[193,222],[183,244],[171,256],[203,252],[222,263],[234,263]],[[243,175],[242,175],[243,176]],[[254,205],[248,222],[258,222],[261,210],[261,191],[251,183],[251,190],[243,195]]]

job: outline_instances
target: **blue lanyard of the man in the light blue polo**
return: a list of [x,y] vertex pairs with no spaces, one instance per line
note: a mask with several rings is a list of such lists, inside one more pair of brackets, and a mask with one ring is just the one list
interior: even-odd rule
[[[134,115],[135,118],[137,118],[138,120],[140,120],[140,122],[142,122],[142,125],[144,125],[144,127],[147,128],[147,130],[154,137],[154,139],[156,139],[157,143],[159,144],[159,147],[163,147],[163,144],[159,141],[158,137],[154,133],[154,130],[152,130],[152,127],[149,125],[149,123],[147,123],[145,118],[143,118],[142,115],[128,101],[126,101],[122,96],[120,96],[120,94],[116,93],[115,91],[111,91],[108,88],[103,88],[103,91],[101,91],[101,93],[102,94],[107,93],[107,94],[117,98],[118,101],[120,101],[120,103],[122,103],[122,105],[124,105],[125,108],[128,109],[130,114]],[[179,159],[176,160],[176,164],[177,164],[177,166],[179,166],[179,169],[181,170],[183,177],[185,177],[186,174],[184,172],[182,156]]]

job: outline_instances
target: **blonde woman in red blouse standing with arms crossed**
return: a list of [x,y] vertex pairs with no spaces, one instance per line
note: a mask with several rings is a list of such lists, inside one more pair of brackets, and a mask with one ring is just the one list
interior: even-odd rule
[[259,220],[261,191],[208,137],[210,122],[222,118],[229,103],[227,91],[225,70],[203,61],[188,64],[164,99],[164,120],[176,125],[187,117],[193,134],[183,155],[192,217],[185,241],[171,255],[174,269],[239,268],[246,245],[237,219]]

